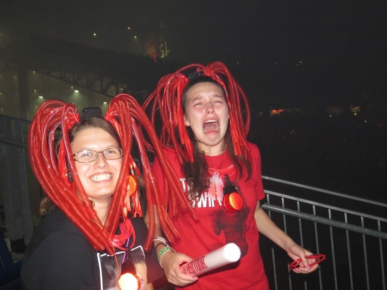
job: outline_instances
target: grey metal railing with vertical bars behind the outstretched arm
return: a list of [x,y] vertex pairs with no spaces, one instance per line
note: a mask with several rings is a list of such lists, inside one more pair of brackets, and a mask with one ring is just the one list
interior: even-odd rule
[[386,290],[387,204],[267,176],[263,179],[267,189],[262,208],[271,219],[303,247],[326,255],[315,273],[294,274],[288,270],[287,254],[262,236],[270,289]]

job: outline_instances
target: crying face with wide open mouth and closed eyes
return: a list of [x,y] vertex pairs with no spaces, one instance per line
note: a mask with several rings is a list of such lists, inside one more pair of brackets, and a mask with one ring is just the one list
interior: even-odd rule
[[194,132],[199,149],[216,156],[223,152],[228,127],[228,107],[223,89],[212,82],[199,82],[186,92],[184,122]]

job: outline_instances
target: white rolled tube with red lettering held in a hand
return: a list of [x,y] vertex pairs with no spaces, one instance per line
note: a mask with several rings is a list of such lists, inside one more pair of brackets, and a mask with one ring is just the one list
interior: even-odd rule
[[224,246],[205,254],[181,267],[182,272],[191,276],[199,276],[213,269],[234,263],[241,258],[241,249],[235,243]]

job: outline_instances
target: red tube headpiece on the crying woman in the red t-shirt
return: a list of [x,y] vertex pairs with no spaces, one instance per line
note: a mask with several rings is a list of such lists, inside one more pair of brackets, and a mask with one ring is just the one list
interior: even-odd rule
[[[157,88],[143,104],[144,109],[151,108],[152,123],[156,122],[156,113],[160,114],[162,120],[160,140],[177,151],[181,163],[194,161],[193,144],[184,125],[184,104],[182,104],[183,91],[189,84],[186,73],[193,70],[202,72],[202,75],[212,78],[223,87],[229,108],[230,131],[235,155],[247,160],[249,152],[247,134],[250,129],[249,103],[244,91],[227,66],[220,61],[209,63],[207,66],[190,64],[160,79]],[[179,137],[176,136],[176,130],[179,132]]]

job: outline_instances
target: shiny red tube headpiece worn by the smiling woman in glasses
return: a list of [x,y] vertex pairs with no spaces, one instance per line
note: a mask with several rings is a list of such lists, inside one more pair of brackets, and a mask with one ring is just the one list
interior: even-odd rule
[[[114,253],[114,246],[121,246],[122,240],[133,234],[130,222],[125,222],[123,227],[120,226],[121,236],[115,235],[120,217],[126,218],[128,212],[131,212],[133,216],[142,216],[138,194],[134,194],[136,182],[132,178],[133,175],[139,174],[137,165],[130,154],[134,140],[140,155],[148,204],[153,203],[154,200],[160,201],[158,211],[160,220],[163,222],[162,229],[170,239],[177,237],[178,232],[169,219],[166,206],[161,202],[155,176],[146,154],[146,146],[149,144],[162,160],[166,160],[161,150],[162,144],[145,112],[133,97],[120,94],[110,102],[105,119],[116,128],[124,151],[120,176],[105,225],[101,223],[89,201],[77,175],[75,161],[73,158],[68,158],[72,157],[68,131],[80,121],[80,117],[73,104],[66,104],[58,100],[46,101],[38,108],[28,133],[31,167],[44,192],[85,234],[96,250]],[[55,134],[59,127],[62,140],[58,157],[56,157]],[[146,143],[142,135],[143,131],[146,132],[149,140]],[[171,194],[180,195],[179,180],[176,174],[173,174],[168,161],[165,161],[164,165],[166,166],[163,166],[162,169],[169,176],[166,182],[171,188]],[[167,168],[168,165],[169,168]],[[73,182],[69,182],[67,171],[71,174]],[[153,207],[149,207],[149,217],[150,226],[145,242],[146,249],[149,249],[154,236]]]

